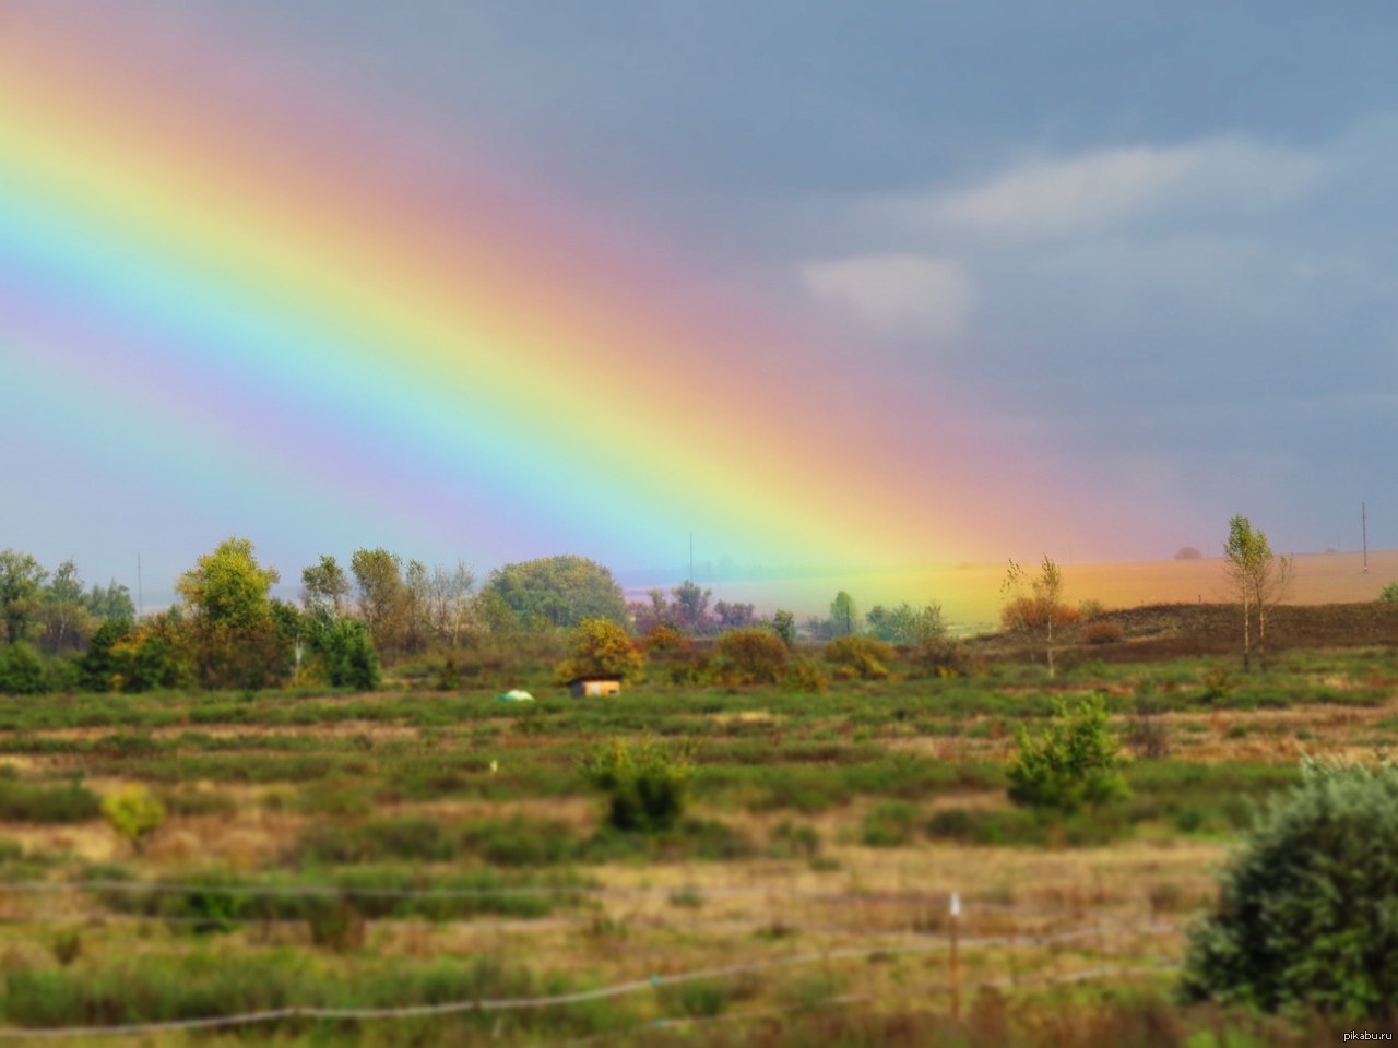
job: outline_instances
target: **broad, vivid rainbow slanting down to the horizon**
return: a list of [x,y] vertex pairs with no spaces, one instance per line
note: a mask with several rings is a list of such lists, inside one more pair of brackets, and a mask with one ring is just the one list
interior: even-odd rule
[[835,576],[1120,525],[955,390],[898,387],[538,176],[226,41],[39,11],[0,35],[6,407],[199,549],[678,566],[693,532],[735,570]]

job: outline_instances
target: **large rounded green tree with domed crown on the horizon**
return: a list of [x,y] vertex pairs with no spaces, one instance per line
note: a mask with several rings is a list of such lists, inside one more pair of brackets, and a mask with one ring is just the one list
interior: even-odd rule
[[626,601],[612,573],[572,553],[505,565],[491,573],[495,594],[526,630],[568,629],[583,619],[628,622]]

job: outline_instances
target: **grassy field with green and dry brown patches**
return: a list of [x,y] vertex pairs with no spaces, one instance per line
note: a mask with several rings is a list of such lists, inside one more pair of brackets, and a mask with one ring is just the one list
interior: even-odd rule
[[[1125,640],[1065,646],[1053,679],[983,639],[967,675],[825,694],[661,664],[573,700],[541,650],[375,694],[0,700],[0,1033],[277,1012],[102,1042],[1338,1042],[1181,1007],[1172,966],[1303,753],[1398,741],[1398,618],[1282,609],[1243,675],[1232,615],[1120,612]],[[1092,693],[1131,796],[1011,806],[1016,727]],[[692,759],[674,829],[607,827],[582,762],[618,739]],[[99,812],[126,783],[168,809],[140,850]]]

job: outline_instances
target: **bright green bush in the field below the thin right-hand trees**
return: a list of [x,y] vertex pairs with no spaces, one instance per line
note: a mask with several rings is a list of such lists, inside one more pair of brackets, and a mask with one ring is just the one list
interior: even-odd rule
[[1005,770],[1009,799],[1030,808],[1076,812],[1127,795],[1117,743],[1107,732],[1102,696],[1068,710],[1054,701],[1054,717],[1039,738],[1016,734],[1019,753]]

